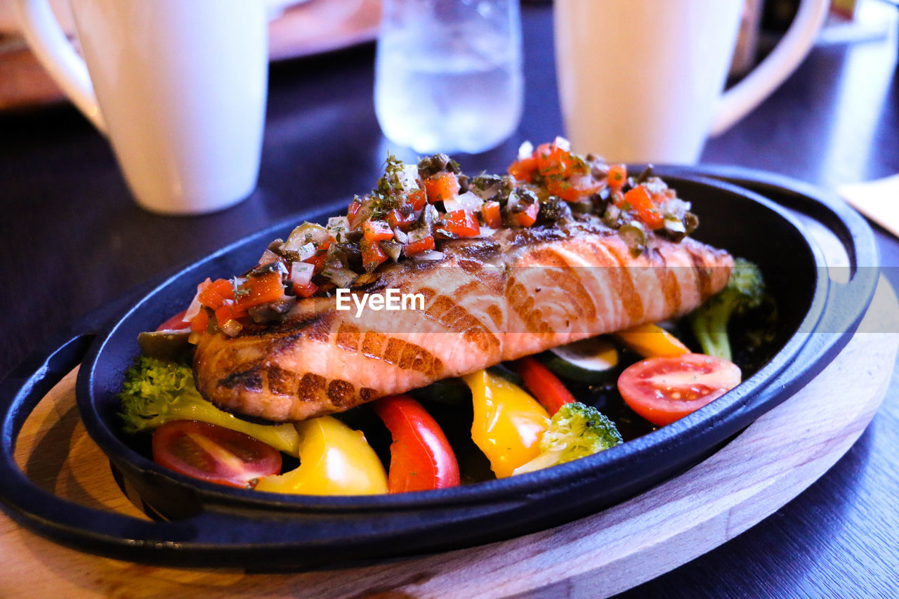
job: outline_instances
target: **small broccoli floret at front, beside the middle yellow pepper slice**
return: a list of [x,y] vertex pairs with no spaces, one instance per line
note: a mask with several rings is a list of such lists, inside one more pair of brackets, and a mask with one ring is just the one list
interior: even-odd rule
[[532,472],[599,453],[621,442],[615,424],[592,406],[577,401],[560,407],[540,438],[540,454],[513,474]]

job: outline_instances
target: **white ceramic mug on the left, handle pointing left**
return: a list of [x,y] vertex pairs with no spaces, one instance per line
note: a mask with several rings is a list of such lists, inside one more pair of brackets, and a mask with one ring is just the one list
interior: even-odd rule
[[254,191],[268,84],[265,3],[71,0],[84,60],[48,0],[16,3],[31,49],[109,137],[141,206],[200,214]]

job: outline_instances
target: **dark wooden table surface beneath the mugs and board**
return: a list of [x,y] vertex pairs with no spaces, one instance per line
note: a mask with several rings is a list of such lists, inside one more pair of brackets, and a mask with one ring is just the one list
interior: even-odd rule
[[[501,171],[523,140],[562,131],[551,9],[523,12],[527,93],[500,148],[458,156]],[[259,188],[235,208],[169,218],[137,208],[106,141],[74,109],[0,115],[0,372],[68,323],[179,264],[376,181],[388,149],[372,104],[371,45],[273,65]],[[708,142],[703,163],[787,174],[832,190],[899,172],[895,30],[818,45],[765,103]],[[899,199],[895,199],[899,200]],[[899,241],[875,227],[899,282]],[[890,596],[899,592],[899,382],[823,478],[733,541],[634,596]]]

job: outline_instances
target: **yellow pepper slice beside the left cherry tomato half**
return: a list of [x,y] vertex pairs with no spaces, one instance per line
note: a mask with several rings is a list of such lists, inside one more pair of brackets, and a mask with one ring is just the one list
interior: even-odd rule
[[299,466],[259,479],[257,491],[298,495],[387,493],[387,473],[361,431],[333,416],[298,423]]

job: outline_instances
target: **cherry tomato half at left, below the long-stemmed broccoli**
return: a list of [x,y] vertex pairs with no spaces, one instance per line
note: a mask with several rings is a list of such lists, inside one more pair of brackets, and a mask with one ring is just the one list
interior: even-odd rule
[[278,450],[224,426],[173,420],[153,433],[153,460],[189,477],[229,487],[249,487],[254,478],[278,474]]

